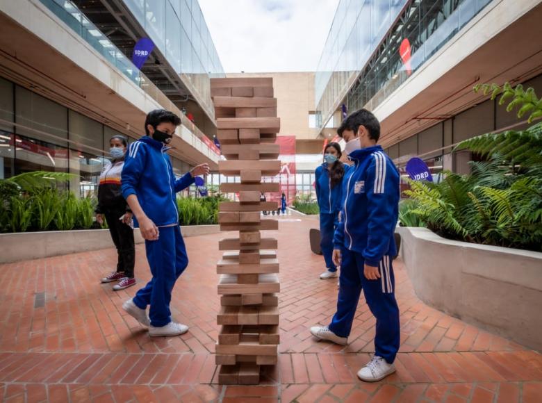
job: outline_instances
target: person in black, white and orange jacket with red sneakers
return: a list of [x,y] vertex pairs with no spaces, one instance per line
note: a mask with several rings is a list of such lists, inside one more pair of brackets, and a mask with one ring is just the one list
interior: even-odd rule
[[136,278],[133,277],[136,249],[133,245],[132,213],[126,200],[122,197],[120,186],[120,174],[124,166],[127,145],[126,138],[122,135],[110,138],[109,146],[112,159],[101,170],[98,186],[96,220],[102,224],[105,217],[118,255],[117,270],[102,278],[101,282],[117,281],[113,290],[124,290],[124,288],[136,284]]

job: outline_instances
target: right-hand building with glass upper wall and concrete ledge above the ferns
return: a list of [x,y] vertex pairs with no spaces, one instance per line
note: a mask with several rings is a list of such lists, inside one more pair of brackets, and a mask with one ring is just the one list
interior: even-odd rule
[[542,94],[539,0],[341,0],[315,75],[320,136],[343,105],[372,110],[381,145],[399,167],[409,158],[468,172],[451,154],[475,135],[525,127],[477,83],[523,83]]

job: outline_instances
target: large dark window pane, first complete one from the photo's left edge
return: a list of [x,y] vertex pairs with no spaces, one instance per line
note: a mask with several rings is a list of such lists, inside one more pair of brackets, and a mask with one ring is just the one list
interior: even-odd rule
[[[15,86],[17,134],[67,146],[67,108]],[[34,130],[32,130],[34,129]]]

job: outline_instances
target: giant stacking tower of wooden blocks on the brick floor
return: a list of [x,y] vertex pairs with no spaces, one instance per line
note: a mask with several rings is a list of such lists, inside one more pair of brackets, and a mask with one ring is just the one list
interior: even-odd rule
[[278,192],[279,183],[262,183],[262,176],[279,173],[280,127],[273,81],[211,79],[217,118],[217,138],[227,161],[220,174],[240,176],[240,183],[222,183],[221,192],[238,193],[239,201],[220,204],[221,231],[239,231],[238,238],[220,240],[224,252],[217,264],[222,325],[216,345],[221,365],[220,384],[258,384],[261,365],[277,363],[279,344],[278,297],[280,284],[277,240],[262,238],[261,230],[279,229],[277,220],[262,220],[261,211],[277,209],[261,202],[261,192]]

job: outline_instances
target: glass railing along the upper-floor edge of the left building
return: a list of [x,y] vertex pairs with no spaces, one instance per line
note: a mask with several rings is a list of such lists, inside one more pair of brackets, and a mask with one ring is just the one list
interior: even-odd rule
[[[49,8],[54,15],[62,20],[69,28],[77,33],[85,42],[90,44],[101,56],[104,56],[109,63],[115,66],[124,76],[130,81],[138,85],[145,94],[154,99],[162,108],[171,110],[173,113],[181,117],[181,123],[183,126],[192,133],[194,136],[191,143],[192,147],[196,149],[208,150],[207,156],[213,160],[217,159],[214,151],[202,141],[204,133],[200,131],[195,124],[190,122],[188,118],[170,101],[169,98],[158,88],[152,81],[150,81],[145,74],[142,74],[140,70],[133,65],[131,60],[124,56],[113,42],[111,42],[106,35],[90,22],[83,13],[77,8],[72,1],[69,0],[40,0],[44,6]],[[186,140],[186,139],[185,139]],[[203,151],[202,151],[203,152]]]

